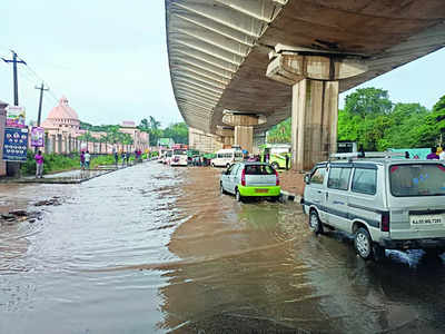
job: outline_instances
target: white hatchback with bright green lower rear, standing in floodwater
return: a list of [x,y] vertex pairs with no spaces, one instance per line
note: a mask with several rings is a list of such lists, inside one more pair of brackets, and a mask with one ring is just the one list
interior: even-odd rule
[[238,202],[246,197],[270,197],[280,195],[278,173],[265,163],[236,163],[220,177],[221,194],[230,193]]

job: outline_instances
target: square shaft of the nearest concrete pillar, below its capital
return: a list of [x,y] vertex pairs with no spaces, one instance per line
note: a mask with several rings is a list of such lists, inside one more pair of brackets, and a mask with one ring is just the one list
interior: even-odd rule
[[297,82],[291,106],[293,166],[309,170],[337,149],[338,81]]

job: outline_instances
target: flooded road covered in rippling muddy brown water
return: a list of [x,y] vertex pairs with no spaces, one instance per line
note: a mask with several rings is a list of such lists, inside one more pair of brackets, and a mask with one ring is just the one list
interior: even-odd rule
[[[0,333],[443,333],[445,266],[358,258],[294,203],[239,204],[219,171],[147,163],[82,185],[0,185]],[[61,205],[34,207],[57,197]]]

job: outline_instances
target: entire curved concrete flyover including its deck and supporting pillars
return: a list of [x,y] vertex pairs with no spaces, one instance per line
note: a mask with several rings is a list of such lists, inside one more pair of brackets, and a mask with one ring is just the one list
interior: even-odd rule
[[255,136],[291,116],[299,170],[335,151],[339,92],[445,46],[443,0],[165,3],[185,121],[250,150]]

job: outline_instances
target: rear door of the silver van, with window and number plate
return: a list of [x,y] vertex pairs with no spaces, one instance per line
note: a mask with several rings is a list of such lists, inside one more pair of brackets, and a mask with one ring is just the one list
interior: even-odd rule
[[388,168],[390,237],[445,237],[445,166],[416,161]]

